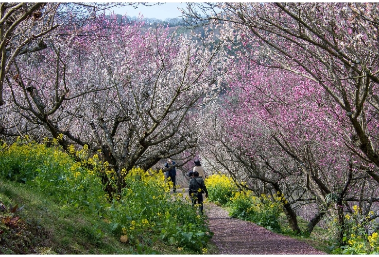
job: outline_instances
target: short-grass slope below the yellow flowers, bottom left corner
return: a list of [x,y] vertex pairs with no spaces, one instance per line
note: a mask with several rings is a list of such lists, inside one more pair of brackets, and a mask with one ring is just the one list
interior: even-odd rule
[[[106,222],[58,206],[23,184],[0,180],[1,203],[0,254],[193,254],[159,241],[138,251],[113,236]],[[24,207],[12,213],[16,205]],[[20,219],[7,223],[6,217]]]

